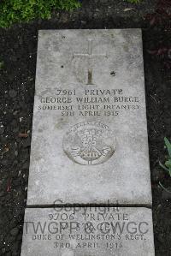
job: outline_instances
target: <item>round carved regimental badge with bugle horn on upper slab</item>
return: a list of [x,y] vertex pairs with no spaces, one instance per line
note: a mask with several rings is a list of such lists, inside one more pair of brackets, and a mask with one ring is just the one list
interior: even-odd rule
[[63,138],[63,149],[74,163],[103,164],[115,152],[115,135],[101,122],[80,122]]

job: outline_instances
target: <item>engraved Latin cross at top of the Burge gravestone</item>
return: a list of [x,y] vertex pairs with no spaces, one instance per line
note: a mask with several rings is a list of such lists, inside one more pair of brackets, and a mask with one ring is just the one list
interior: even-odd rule
[[73,57],[86,57],[88,59],[88,81],[87,81],[87,85],[93,85],[91,59],[94,58],[94,57],[107,57],[107,54],[92,54],[92,39],[88,39],[88,52],[87,53],[74,53]]

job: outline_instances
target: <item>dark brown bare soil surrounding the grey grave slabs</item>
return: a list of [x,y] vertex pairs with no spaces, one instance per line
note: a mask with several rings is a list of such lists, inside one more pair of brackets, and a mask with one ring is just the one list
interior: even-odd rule
[[163,138],[171,139],[171,72],[167,54],[149,51],[171,48],[166,24],[150,27],[146,14],[156,1],[131,4],[112,0],[85,0],[72,13],[54,12],[50,21],[33,21],[0,29],[0,255],[18,256],[32,136],[32,107],[37,57],[38,29],[142,27],[144,75],[153,220],[156,256],[171,255],[171,178],[159,166],[165,160]]

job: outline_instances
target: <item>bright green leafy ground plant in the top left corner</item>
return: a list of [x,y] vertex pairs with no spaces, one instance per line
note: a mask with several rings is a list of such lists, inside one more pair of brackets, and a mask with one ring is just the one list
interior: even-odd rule
[[50,19],[53,9],[72,10],[79,7],[78,0],[1,0],[0,27],[37,18]]

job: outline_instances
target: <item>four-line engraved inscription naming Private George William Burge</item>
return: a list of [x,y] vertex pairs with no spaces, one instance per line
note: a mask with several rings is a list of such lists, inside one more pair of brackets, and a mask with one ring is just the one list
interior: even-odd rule
[[[48,95],[49,94],[49,95]],[[122,89],[47,90],[38,110],[61,110],[61,116],[118,116],[121,110],[139,110],[139,97],[125,95]]]

